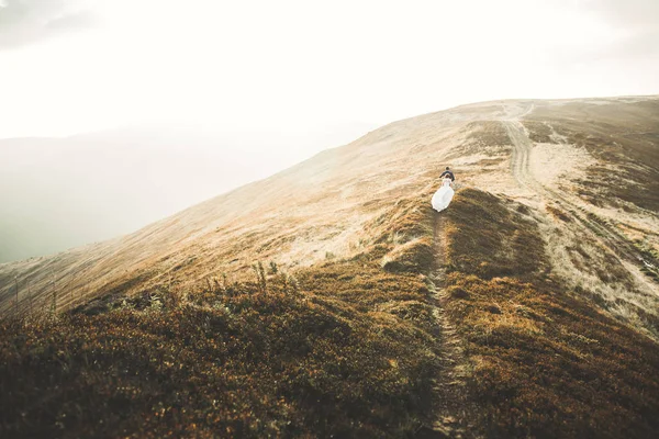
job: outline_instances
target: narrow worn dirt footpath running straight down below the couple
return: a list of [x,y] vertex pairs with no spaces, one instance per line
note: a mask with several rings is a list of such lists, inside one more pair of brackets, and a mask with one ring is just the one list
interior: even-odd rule
[[449,322],[445,312],[448,300],[445,291],[445,235],[444,217],[435,213],[434,224],[435,267],[429,275],[434,285],[433,315],[438,323],[438,338],[440,340],[439,358],[442,372],[435,380],[433,387],[438,395],[435,406],[435,419],[432,425],[424,426],[417,431],[417,438],[477,438],[476,431],[478,409],[468,397],[466,378],[470,365],[465,354],[462,339]]

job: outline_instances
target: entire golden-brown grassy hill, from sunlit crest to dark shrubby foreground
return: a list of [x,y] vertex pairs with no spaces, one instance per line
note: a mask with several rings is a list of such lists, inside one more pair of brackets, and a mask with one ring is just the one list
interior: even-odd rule
[[[459,189],[436,214],[446,165]],[[2,327],[21,403],[1,428],[656,435],[658,194],[657,97],[394,122],[126,237],[0,264],[5,315],[60,315]]]

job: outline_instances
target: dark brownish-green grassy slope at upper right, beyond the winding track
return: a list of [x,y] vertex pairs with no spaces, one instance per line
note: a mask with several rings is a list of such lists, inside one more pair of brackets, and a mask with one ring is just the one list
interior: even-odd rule
[[570,103],[560,112],[539,108],[524,125],[534,142],[555,143],[547,123],[600,160],[579,181],[580,196],[594,205],[616,205],[623,200],[659,211],[659,100],[616,105]]

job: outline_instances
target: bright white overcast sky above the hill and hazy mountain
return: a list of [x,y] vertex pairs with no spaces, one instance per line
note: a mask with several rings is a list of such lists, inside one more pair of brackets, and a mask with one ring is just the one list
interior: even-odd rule
[[0,137],[659,93],[657,0],[0,0]]

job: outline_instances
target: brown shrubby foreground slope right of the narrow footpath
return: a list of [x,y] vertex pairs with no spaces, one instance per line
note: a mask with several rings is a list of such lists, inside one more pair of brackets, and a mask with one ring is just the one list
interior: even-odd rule
[[659,347],[566,291],[522,205],[477,190],[447,211],[447,312],[490,437],[659,435]]

